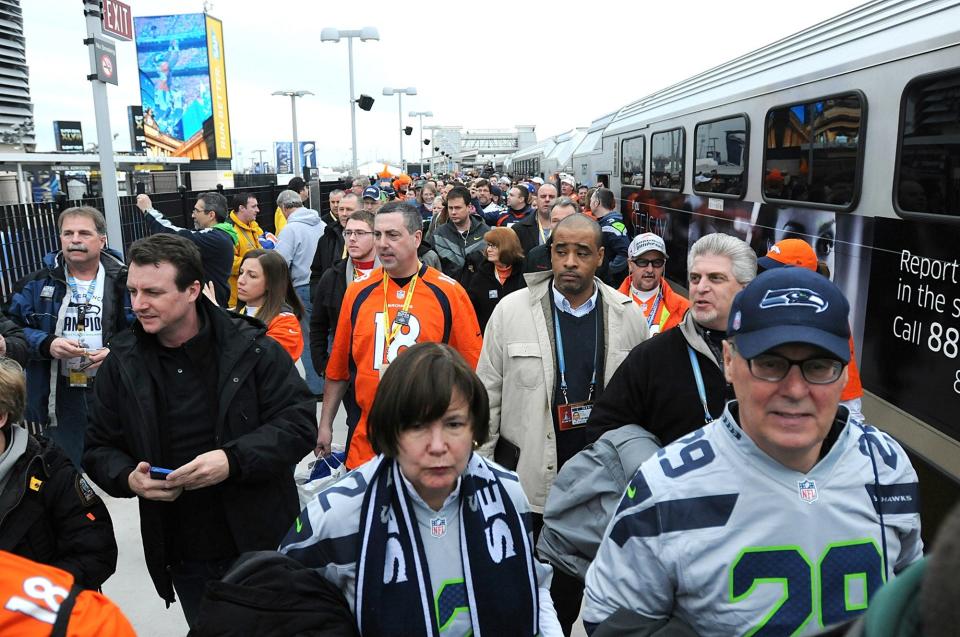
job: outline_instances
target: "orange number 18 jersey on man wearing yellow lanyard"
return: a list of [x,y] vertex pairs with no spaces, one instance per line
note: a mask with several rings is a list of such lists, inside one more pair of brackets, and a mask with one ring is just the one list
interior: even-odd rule
[[[434,268],[423,265],[416,286],[401,287],[387,278],[386,324],[393,331],[393,320],[409,300],[409,317],[387,347],[384,325],[383,270],[377,268],[368,279],[351,283],[343,297],[333,350],[326,377],[354,381],[360,421],[350,441],[347,466],[354,469],[374,456],[367,438],[367,415],[380,382],[380,370],[408,347],[417,343],[447,343],[474,369],[480,358],[483,339],[477,315],[466,290]],[[413,298],[406,295],[413,287]]]

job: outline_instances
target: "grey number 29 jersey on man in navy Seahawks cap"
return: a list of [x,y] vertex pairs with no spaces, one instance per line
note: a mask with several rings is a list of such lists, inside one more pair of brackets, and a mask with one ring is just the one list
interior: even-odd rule
[[701,637],[810,634],[922,556],[917,474],[890,436],[848,421],[804,474],[729,409],[637,471],[587,572],[588,625],[626,608]]

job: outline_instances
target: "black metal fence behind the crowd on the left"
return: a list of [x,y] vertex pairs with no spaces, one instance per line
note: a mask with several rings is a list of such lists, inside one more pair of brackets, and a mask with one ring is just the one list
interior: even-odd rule
[[[327,197],[330,191],[343,187],[344,184],[340,182],[314,184],[311,205],[322,214],[328,212],[330,204]],[[265,184],[247,188],[220,188],[217,191],[227,198],[228,205],[235,194],[256,197],[260,203],[257,223],[264,230],[273,232],[277,195],[284,189],[285,186]],[[150,199],[153,207],[174,225],[192,228],[193,205],[201,192],[205,191],[166,192],[151,195]],[[103,210],[103,199],[61,198],[46,203],[0,206],[0,304],[6,306],[10,302],[17,281],[43,267],[46,254],[60,249],[57,217],[72,206],[93,206]],[[120,224],[124,250],[137,239],[147,236],[143,214],[137,208],[135,196],[120,197]]]

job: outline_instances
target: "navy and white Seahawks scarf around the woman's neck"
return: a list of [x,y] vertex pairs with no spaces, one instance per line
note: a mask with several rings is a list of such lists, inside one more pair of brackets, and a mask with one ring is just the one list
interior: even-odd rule
[[[439,637],[430,571],[413,502],[381,456],[360,514],[355,612],[361,635]],[[460,556],[475,637],[540,631],[530,536],[494,469],[472,454],[460,480]]]

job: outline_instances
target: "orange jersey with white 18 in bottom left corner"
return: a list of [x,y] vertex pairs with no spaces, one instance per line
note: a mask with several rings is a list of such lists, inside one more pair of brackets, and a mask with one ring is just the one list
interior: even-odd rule
[[[0,551],[0,635],[50,635],[73,583],[66,571]],[[78,591],[69,612],[68,637],[136,637],[120,609],[96,591]]]

